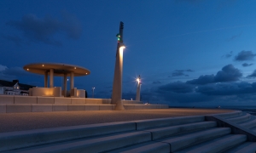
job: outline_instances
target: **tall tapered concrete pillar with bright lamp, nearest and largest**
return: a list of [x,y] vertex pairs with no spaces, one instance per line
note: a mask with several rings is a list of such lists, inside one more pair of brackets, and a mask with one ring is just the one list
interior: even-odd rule
[[112,104],[116,105],[115,110],[117,111],[125,110],[122,101],[123,49],[125,48],[123,45],[123,29],[124,23],[120,22],[112,90]]

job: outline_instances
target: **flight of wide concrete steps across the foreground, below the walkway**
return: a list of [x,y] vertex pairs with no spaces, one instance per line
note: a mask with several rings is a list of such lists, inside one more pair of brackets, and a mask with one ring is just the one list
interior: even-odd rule
[[[218,117],[241,122],[247,115],[235,111]],[[247,134],[235,134],[232,127],[218,127],[218,122],[207,118],[182,116],[0,133],[0,152],[255,152],[256,142],[250,142]],[[253,127],[249,122],[241,125]]]

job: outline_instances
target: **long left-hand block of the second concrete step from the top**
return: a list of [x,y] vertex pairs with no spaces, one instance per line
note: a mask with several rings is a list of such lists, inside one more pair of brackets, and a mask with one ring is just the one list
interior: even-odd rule
[[102,138],[79,139],[67,141],[58,144],[45,144],[32,148],[14,150],[15,152],[24,153],[43,153],[43,152],[102,152],[125,147],[132,144],[149,142],[151,133],[138,131],[133,133],[121,133]]

